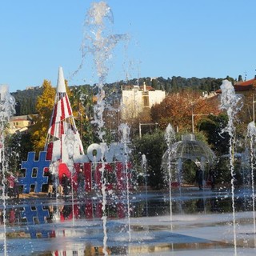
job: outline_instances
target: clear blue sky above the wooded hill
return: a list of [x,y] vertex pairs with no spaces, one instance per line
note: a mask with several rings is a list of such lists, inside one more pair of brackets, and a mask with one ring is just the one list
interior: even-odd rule
[[[98,74],[84,52],[90,0],[0,0],[0,84],[10,92],[56,86],[62,66],[70,86],[94,84]],[[254,78],[256,1],[106,0],[126,35],[108,57],[104,82],[140,77]],[[109,24],[108,24],[109,25]]]

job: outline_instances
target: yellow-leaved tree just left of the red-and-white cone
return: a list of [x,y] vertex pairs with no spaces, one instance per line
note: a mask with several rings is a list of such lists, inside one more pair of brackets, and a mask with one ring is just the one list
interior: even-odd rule
[[34,150],[37,152],[43,150],[46,143],[50,117],[54,108],[55,94],[56,91],[51,86],[51,83],[44,80],[42,83],[42,95],[38,97],[36,104],[38,114],[34,115],[34,126],[31,130]]

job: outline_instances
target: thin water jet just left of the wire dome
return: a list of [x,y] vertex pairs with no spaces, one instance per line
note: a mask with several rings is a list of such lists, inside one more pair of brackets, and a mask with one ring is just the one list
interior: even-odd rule
[[172,195],[171,195],[171,164],[170,164],[170,155],[172,153],[171,150],[171,145],[174,143],[175,140],[175,133],[173,127],[169,124],[166,127],[166,134],[165,134],[165,139],[166,139],[166,145],[167,145],[167,155],[168,155],[168,160],[167,160],[167,170],[169,174],[169,198],[170,198],[170,229],[173,229],[173,210],[172,210]]

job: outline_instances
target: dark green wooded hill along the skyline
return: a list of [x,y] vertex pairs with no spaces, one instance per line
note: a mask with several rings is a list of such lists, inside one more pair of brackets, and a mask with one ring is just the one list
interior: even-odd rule
[[[193,90],[202,90],[206,92],[218,90],[223,79],[228,79],[234,82],[233,78],[182,78],[180,76],[172,78],[134,78],[127,81],[109,83],[105,85],[106,101],[112,102],[115,98],[121,96],[121,86],[123,85],[138,85],[142,86],[146,82],[146,86],[152,86],[155,90],[166,90],[166,93],[174,92],[175,90],[191,88]],[[91,94],[97,94],[97,86],[81,85],[70,86],[70,90],[76,87],[86,87]],[[30,88],[28,90],[17,90],[11,93],[16,100],[16,114],[37,114],[36,104],[38,96],[42,95],[42,86]]]

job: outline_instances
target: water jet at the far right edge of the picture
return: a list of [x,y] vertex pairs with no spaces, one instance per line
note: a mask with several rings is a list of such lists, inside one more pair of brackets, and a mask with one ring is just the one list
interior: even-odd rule
[[255,149],[256,143],[256,127],[254,122],[250,122],[247,127],[247,137],[250,140],[250,170],[251,170],[251,197],[253,200],[253,218],[254,218],[254,247],[256,247],[256,223],[255,223],[255,194],[254,194],[254,165],[255,165]]

